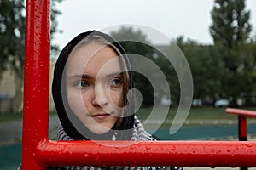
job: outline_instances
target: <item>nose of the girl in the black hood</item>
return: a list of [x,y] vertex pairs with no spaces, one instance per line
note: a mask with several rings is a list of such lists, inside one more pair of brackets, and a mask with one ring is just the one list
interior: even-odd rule
[[92,99],[93,105],[99,105],[103,107],[108,105],[108,90],[101,85],[97,85],[94,89],[94,99]]

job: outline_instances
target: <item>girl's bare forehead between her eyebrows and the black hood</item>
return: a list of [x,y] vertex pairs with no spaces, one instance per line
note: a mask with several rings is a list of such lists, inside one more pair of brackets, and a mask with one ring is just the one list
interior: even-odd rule
[[104,44],[90,43],[74,51],[67,59],[67,74],[120,72],[118,54]]

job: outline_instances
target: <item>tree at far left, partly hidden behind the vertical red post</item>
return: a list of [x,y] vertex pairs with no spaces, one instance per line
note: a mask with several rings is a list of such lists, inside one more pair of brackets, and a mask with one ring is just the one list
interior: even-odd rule
[[[61,14],[55,9],[52,1],[51,38],[57,30],[56,16]],[[22,104],[23,68],[24,68],[24,40],[25,40],[25,6],[23,0],[0,0],[0,80],[3,71],[9,69],[15,76],[14,111],[20,111]],[[56,45],[51,49],[58,50]]]

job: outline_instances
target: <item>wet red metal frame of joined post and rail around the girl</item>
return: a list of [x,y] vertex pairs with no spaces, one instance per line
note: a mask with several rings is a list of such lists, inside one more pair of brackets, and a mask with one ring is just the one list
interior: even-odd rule
[[98,144],[49,140],[49,10],[49,0],[26,0],[22,169],[43,170],[49,165],[256,167],[256,142],[249,141]]

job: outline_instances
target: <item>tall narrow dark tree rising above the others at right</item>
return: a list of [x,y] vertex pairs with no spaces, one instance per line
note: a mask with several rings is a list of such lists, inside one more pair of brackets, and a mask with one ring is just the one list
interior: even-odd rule
[[[250,11],[245,9],[245,0],[215,0],[212,9],[210,32],[214,46],[224,62],[224,78],[221,87],[226,97],[236,98],[247,86],[245,62],[247,43],[250,42]],[[236,105],[234,105],[236,106]]]

